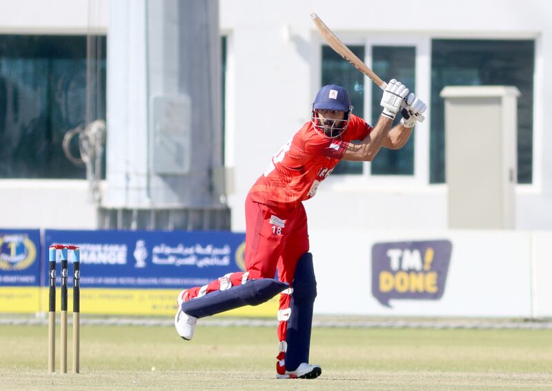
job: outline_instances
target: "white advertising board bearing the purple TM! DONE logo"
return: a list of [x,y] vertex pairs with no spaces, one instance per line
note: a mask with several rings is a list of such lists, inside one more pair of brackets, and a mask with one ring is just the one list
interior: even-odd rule
[[533,315],[530,232],[311,230],[310,239],[317,314]]

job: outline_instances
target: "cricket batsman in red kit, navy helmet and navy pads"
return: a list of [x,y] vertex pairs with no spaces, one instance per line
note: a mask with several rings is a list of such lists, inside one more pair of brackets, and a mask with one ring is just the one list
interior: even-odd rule
[[[322,374],[319,365],[308,363],[317,292],[303,201],[315,196],[340,160],[371,161],[382,146],[402,148],[427,108],[395,79],[387,84],[381,105],[382,114],[372,127],[353,115],[346,89],[336,84],[320,88],[311,121],[273,156],[248,193],[246,271],[180,292],[175,316],[179,336],[192,339],[198,318],[258,305],[280,294],[276,377],[315,379]],[[399,112],[402,120],[391,128]]]

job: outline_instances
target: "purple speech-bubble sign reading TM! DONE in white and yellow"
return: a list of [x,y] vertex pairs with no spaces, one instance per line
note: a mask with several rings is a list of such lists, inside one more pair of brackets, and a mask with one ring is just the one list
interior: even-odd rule
[[372,294],[391,299],[439,300],[451,261],[449,240],[376,243],[372,247]]

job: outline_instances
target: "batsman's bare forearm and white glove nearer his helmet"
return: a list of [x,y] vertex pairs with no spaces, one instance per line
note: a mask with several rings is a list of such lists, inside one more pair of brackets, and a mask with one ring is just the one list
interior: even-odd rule
[[[388,144],[389,129],[406,95],[408,95],[408,88],[401,82],[391,79],[384,90],[382,101],[380,102],[384,108],[382,115],[380,115],[380,120],[377,121],[371,133],[362,142],[347,146],[342,160],[371,162],[375,158],[375,155],[377,155],[382,146]],[[395,133],[400,134],[401,132],[397,131]],[[406,140],[404,141],[405,143]]]

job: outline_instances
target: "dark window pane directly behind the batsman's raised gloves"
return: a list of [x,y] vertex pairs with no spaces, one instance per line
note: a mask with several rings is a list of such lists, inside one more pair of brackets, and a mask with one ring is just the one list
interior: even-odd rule
[[[388,82],[395,78],[406,84],[412,92],[416,90],[415,79],[416,50],[411,46],[373,46],[372,69],[382,80]],[[372,124],[382,113],[380,101],[382,90],[374,85],[372,88]],[[395,124],[400,122],[401,115],[395,118]],[[408,142],[397,151],[382,148],[377,158],[371,162],[372,175],[413,175],[414,174],[414,137],[412,132]]]

